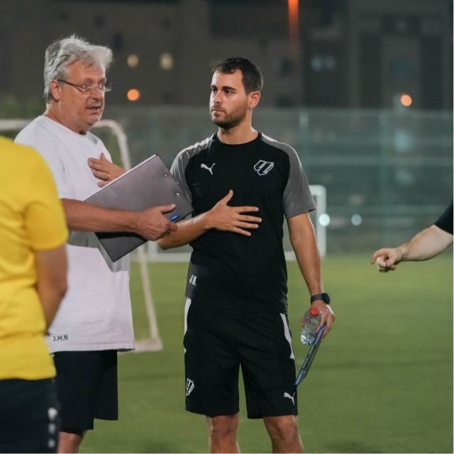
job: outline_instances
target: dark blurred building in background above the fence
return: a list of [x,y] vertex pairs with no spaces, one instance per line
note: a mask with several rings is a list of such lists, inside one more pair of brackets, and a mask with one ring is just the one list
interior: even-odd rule
[[0,101],[38,96],[46,46],[77,33],[114,50],[114,104],[205,105],[214,63],[244,55],[265,106],[451,109],[450,0],[301,0],[288,24],[287,0],[0,0]]

